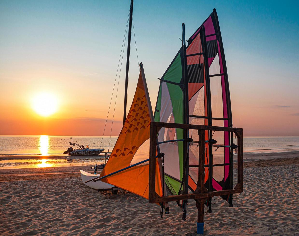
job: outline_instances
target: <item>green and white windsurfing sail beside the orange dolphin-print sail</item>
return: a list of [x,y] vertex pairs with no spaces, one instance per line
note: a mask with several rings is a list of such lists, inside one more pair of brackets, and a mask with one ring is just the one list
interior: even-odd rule
[[[182,86],[182,49],[161,78],[158,99],[155,109],[155,121],[183,124],[183,90]],[[183,139],[183,129],[161,129],[158,141]],[[160,144],[164,155],[165,182],[169,191],[176,195],[179,192],[183,177],[183,142]]]

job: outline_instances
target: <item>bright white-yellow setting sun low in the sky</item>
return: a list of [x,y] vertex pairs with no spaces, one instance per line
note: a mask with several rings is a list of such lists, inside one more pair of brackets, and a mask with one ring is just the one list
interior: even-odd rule
[[47,92],[36,94],[32,100],[33,110],[42,116],[49,116],[58,109],[57,98]]

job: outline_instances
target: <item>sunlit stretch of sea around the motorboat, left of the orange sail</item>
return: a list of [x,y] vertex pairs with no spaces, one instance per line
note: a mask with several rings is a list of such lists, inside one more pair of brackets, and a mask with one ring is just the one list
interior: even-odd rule
[[[104,152],[111,152],[116,140],[116,136],[0,135],[0,169],[101,164],[105,163],[107,156],[104,153],[97,156],[69,156],[63,151],[74,148],[71,142],[84,147],[88,144],[89,149],[102,148]],[[23,155],[30,158],[21,158]],[[9,159],[9,156],[16,157]]]

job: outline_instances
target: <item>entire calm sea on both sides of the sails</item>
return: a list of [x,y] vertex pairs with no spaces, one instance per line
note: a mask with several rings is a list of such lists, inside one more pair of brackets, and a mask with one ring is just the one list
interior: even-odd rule
[[[116,140],[116,136],[110,138],[109,136],[0,135],[0,169],[93,165],[97,160],[98,163],[103,163],[104,154],[76,157],[64,155],[63,151],[67,150],[70,147],[69,142],[72,142],[84,146],[88,144],[89,149],[103,148],[105,152],[111,152]],[[245,154],[299,151],[298,136],[244,137],[243,143]],[[12,155],[31,155],[32,159],[5,158]],[[37,158],[38,155],[47,158],[40,160]]]

